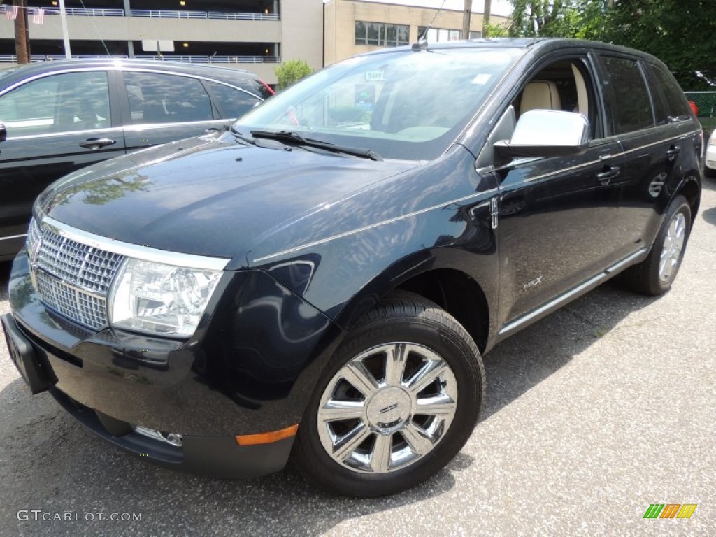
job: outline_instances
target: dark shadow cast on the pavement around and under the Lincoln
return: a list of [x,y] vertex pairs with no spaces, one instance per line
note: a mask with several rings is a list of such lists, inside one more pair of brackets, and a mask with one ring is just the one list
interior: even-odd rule
[[[579,357],[630,312],[653,300],[606,284],[499,344],[485,356],[488,386],[481,420]],[[0,347],[0,369],[14,369],[4,341]],[[58,537],[88,531],[120,535],[130,528],[176,535],[316,535],[357,517],[385,521],[394,508],[430,505],[473,463],[470,455],[460,453],[417,488],[373,499],[321,493],[293,465],[251,480],[185,475],[107,445],[83,430],[47,393],[30,396],[19,378],[0,391],[0,438],[0,529]],[[32,509],[69,511],[81,520],[19,520],[18,511]],[[95,518],[88,525],[82,519],[86,513],[141,513],[142,519],[116,523]]]

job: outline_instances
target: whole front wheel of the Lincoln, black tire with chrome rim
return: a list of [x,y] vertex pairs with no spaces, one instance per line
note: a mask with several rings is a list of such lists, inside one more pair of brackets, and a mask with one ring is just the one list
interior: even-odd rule
[[368,312],[311,396],[294,454],[337,495],[411,488],[458,454],[475,427],[485,370],[463,326],[410,293]]

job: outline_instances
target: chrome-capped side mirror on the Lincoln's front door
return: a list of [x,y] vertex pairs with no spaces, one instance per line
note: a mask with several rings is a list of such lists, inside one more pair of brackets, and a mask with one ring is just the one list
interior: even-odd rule
[[495,142],[500,157],[579,155],[589,141],[589,120],[576,112],[530,110],[520,116],[511,140]]

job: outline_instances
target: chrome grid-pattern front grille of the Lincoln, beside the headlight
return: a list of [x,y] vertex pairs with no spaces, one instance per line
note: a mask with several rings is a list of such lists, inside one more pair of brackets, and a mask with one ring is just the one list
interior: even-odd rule
[[79,324],[105,328],[107,293],[125,256],[74,241],[34,220],[28,248],[40,301]]

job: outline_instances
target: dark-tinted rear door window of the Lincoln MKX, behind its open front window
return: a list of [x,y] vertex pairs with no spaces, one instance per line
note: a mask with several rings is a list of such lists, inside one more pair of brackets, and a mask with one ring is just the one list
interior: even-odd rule
[[[624,134],[654,125],[649,90],[636,60],[602,56],[604,83],[609,86],[606,98],[612,96],[611,116],[614,133]],[[611,90],[611,91],[610,91]]]

